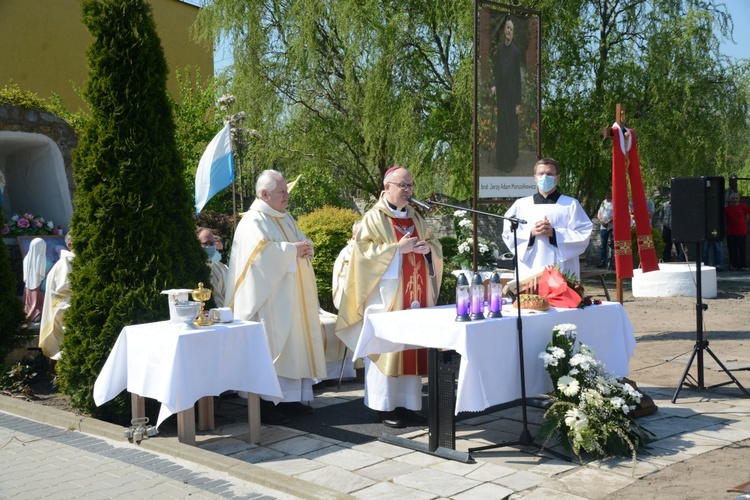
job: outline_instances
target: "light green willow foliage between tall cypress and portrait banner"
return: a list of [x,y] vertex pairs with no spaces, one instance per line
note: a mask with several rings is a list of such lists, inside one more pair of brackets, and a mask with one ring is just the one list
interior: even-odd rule
[[264,137],[255,169],[324,175],[367,198],[401,164],[416,196],[465,198],[469,176],[451,174],[472,158],[472,17],[468,0],[215,0],[196,34],[234,47],[231,93]]

